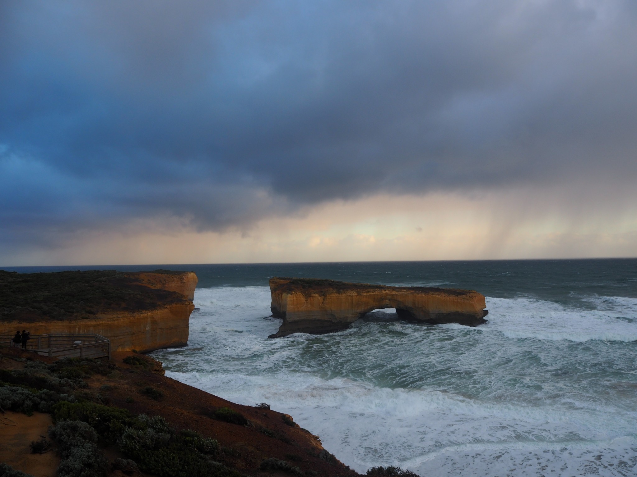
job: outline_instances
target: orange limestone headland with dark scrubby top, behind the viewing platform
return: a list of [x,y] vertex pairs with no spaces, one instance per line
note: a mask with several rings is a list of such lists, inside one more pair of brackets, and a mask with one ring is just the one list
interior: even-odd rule
[[193,272],[0,270],[0,335],[97,333],[113,351],[185,346],[196,286]]

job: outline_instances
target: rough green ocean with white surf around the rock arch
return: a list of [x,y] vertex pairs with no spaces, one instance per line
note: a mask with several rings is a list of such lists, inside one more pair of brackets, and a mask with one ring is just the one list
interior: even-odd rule
[[[78,268],[90,267],[66,267]],[[152,354],[166,375],[289,413],[360,473],[637,475],[637,259],[161,268],[199,277],[189,345]],[[489,322],[379,310],[338,333],[268,339],[273,276],[475,289]]]

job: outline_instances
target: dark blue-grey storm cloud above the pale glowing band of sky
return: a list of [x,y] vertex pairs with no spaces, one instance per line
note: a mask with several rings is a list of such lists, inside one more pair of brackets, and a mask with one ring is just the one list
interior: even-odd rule
[[0,234],[634,183],[634,5],[5,1]]

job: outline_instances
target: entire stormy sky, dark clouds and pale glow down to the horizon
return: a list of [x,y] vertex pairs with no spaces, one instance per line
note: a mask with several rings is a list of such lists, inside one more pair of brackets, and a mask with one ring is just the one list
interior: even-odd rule
[[0,265],[637,256],[636,46],[633,0],[0,0]]

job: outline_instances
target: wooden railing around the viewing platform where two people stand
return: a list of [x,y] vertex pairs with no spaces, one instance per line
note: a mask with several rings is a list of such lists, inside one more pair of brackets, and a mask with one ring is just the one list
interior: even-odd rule
[[[13,347],[14,335],[0,335],[0,347]],[[111,359],[111,342],[93,333],[49,333],[31,335],[26,350],[50,357],[108,357]],[[18,343],[17,347],[22,347]]]

